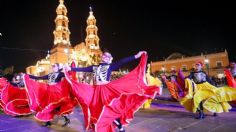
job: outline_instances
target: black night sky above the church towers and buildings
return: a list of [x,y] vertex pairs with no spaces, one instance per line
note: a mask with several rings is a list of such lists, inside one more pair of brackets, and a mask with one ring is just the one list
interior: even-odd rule
[[[58,3],[59,0],[0,0],[0,65],[14,65],[16,70],[24,71],[26,66],[46,56],[45,51],[53,46]],[[230,61],[236,60],[233,3],[65,0],[65,5],[72,45],[85,39],[91,5],[97,19],[100,46],[110,50],[115,60],[139,50],[146,50],[149,60],[157,61],[173,52],[191,56],[224,49]]]

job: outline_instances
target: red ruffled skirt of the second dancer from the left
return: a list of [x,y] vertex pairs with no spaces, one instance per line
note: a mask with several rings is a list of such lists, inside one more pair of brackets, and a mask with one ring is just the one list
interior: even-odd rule
[[69,114],[78,104],[71,95],[70,84],[65,79],[49,85],[32,80],[29,75],[25,75],[24,82],[30,108],[36,112],[35,117],[40,121],[50,121],[55,115]]

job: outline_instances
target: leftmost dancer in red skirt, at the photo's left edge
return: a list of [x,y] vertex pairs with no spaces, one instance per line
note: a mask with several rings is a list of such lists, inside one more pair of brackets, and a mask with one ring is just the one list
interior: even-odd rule
[[[24,88],[22,74],[15,74],[11,82],[1,80],[1,106],[4,112],[11,116],[23,116],[32,114],[29,108],[29,100]],[[2,87],[2,86],[1,86]]]

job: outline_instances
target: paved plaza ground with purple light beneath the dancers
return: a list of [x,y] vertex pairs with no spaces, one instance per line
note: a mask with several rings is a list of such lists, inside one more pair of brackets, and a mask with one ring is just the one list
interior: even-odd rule
[[[140,109],[126,132],[235,132],[236,107],[228,113],[206,113],[203,120],[195,119],[196,114],[187,112],[178,102],[171,100],[166,89],[163,95],[153,100],[151,108]],[[50,127],[42,127],[42,123],[33,116],[12,117],[0,112],[0,132],[84,132],[83,113],[76,107],[69,115],[71,123],[61,127],[63,119],[55,117]]]

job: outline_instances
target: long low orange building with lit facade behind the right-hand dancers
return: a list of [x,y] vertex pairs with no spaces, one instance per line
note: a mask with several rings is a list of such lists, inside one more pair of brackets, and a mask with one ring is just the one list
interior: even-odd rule
[[229,65],[228,53],[224,52],[201,54],[199,56],[185,57],[180,53],[173,53],[164,61],[151,63],[152,73],[170,73],[172,70],[182,69],[185,75],[194,69],[197,60],[204,63],[204,70],[210,75],[221,78],[224,68]]

